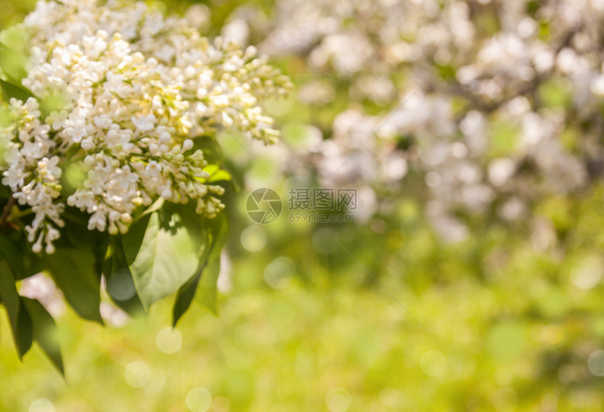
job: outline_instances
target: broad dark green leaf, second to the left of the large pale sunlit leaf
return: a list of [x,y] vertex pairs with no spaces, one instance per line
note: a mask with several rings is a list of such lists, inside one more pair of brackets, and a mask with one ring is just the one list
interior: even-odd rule
[[46,268],[65,299],[83,318],[98,321],[100,317],[100,277],[91,248],[59,248],[44,258]]

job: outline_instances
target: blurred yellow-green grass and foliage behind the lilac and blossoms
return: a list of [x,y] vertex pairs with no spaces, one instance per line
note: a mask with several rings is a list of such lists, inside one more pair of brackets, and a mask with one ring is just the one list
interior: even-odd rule
[[[183,14],[194,3],[159,6]],[[539,7],[525,3],[528,11]],[[224,34],[237,16],[259,13],[248,27],[250,44],[268,34],[277,8],[275,1],[208,5],[197,13],[206,13],[202,26],[210,36]],[[5,28],[34,1],[2,6]],[[485,35],[498,24],[488,9],[475,15]],[[548,22],[539,22],[539,36],[550,35]],[[240,190],[225,201],[234,206],[218,317],[198,302],[171,332],[169,301],[141,319],[126,319],[105,302],[111,326],[102,328],[55,302],[55,313],[63,310],[58,338],[67,355],[65,383],[39,350],[20,364],[3,315],[0,410],[602,410],[604,187],[598,179],[580,190],[539,192],[525,205],[530,220],[502,219],[499,198],[481,213],[455,209],[468,232],[457,241],[443,239],[426,213],[430,172],[413,168],[394,183],[374,182],[371,199],[382,206],[357,215],[356,224],[291,223],[287,212],[270,225],[249,220],[249,190],[273,187],[287,203],[289,187],[325,185],[310,164],[301,166],[306,175],[284,169],[277,161],[284,147],[302,152],[317,130],[329,140],[334,118],[349,107],[374,116],[398,106],[394,97],[351,98],[353,75],[310,67],[307,57],[308,51],[273,57],[297,91],[267,107],[284,131],[274,152],[222,136]],[[435,67],[445,81],[457,71],[447,63]],[[389,74],[395,88],[409,75],[404,68]],[[314,98],[332,94],[324,105],[301,98],[303,86],[317,82],[327,87],[311,93]],[[556,79],[534,93],[541,107],[571,104],[567,85]],[[451,104],[465,113],[468,101]],[[560,135],[569,152],[580,153],[585,125],[579,126]],[[400,135],[397,147],[421,147],[414,139]],[[480,161],[513,154],[516,139],[518,127],[496,119]],[[52,291],[41,280],[28,286]]]

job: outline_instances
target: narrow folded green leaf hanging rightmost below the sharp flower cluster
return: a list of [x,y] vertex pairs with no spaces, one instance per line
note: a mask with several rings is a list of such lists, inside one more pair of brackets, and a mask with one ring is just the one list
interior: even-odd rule
[[[190,307],[198,288],[199,293],[197,295],[199,300],[202,301],[202,305],[208,307],[214,314],[217,313],[216,293],[218,293],[218,288],[216,283],[218,274],[220,274],[221,251],[226,241],[227,232],[228,225],[223,213],[209,222],[206,228],[206,233],[209,234],[209,247],[202,254],[195,275],[183,284],[176,293],[176,299],[172,307],[173,326],[176,326],[178,320]],[[202,286],[199,287],[202,279]]]

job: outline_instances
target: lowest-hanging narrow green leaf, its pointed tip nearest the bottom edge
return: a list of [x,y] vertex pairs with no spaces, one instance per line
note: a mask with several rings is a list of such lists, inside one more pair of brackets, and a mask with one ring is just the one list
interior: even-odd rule
[[53,317],[37,300],[28,298],[22,298],[22,300],[32,317],[34,339],[61,375],[65,376],[63,357],[61,357],[60,345],[57,339],[57,325]]

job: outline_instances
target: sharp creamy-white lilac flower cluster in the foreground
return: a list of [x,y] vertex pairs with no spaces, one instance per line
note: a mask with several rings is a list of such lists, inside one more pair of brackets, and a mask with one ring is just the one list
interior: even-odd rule
[[[31,52],[22,86],[34,97],[10,101],[1,182],[32,208],[25,230],[36,252],[53,253],[65,204],[90,215],[89,230],[113,234],[159,197],[192,199],[212,218],[223,189],[207,183],[192,138],[218,126],[266,143],[279,135],[259,101],[286,94],[289,80],[254,47],[211,43],[142,2],[39,1],[21,28]],[[39,102],[57,96],[62,107],[45,113]],[[73,162],[86,178],[62,194],[63,166]]]

